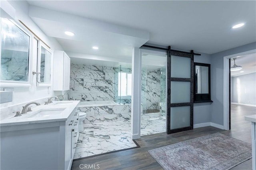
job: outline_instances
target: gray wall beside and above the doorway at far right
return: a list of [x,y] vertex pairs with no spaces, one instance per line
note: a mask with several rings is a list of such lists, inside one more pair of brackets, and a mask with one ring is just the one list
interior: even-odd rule
[[223,57],[256,49],[256,42],[211,55],[211,122],[223,125]]

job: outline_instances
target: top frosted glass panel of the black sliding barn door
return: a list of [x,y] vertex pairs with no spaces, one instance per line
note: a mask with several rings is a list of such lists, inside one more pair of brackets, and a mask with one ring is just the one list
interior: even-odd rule
[[171,77],[172,78],[190,78],[191,77],[191,59],[188,57],[171,56]]

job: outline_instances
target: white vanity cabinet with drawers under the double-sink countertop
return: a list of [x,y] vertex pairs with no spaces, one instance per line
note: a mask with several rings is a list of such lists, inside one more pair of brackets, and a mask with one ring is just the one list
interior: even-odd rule
[[70,170],[79,135],[78,106],[74,101],[58,119],[1,123],[1,169]]

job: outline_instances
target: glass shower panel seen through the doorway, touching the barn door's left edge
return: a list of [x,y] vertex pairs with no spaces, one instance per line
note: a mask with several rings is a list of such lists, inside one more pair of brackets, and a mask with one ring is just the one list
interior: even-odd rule
[[160,68],[160,113],[166,115],[166,67]]

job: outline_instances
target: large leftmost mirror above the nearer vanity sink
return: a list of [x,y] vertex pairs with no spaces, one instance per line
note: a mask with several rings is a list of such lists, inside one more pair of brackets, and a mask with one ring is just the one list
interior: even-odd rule
[[15,21],[1,18],[1,82],[29,83],[31,37]]

